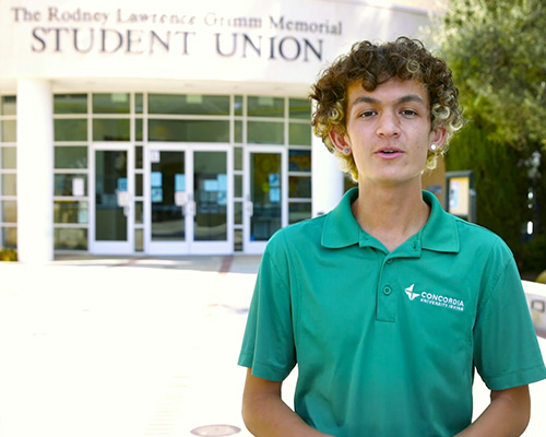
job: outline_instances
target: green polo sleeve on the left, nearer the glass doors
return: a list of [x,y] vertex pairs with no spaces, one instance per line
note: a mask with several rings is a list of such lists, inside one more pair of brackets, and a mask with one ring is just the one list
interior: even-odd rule
[[263,255],[238,361],[251,367],[252,375],[273,381],[284,380],[296,365],[292,296],[282,241],[274,236]]

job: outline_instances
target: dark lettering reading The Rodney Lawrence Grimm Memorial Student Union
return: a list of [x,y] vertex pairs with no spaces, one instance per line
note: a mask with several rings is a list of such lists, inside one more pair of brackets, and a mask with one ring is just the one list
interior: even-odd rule
[[[111,13],[81,8],[60,10],[57,7],[48,7],[45,11],[13,7],[11,15],[15,24],[32,23],[28,48],[37,54],[95,51],[104,55],[169,52],[191,56],[198,46],[195,40],[201,36],[199,29],[205,27],[212,31],[209,35],[211,55],[306,62],[311,58],[322,60],[323,38],[343,33],[342,21],[317,23],[289,20],[284,15],[225,17],[215,12],[202,16],[167,15],[123,9]],[[141,24],[152,25],[152,28],[141,28]],[[226,27],[230,29],[226,32]],[[265,36],[257,32],[264,28],[285,34]]]

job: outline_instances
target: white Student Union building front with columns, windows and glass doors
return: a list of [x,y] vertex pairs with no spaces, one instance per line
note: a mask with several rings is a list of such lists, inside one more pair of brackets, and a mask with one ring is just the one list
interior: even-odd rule
[[361,39],[418,36],[387,2],[2,0],[0,247],[260,253],[344,178],[309,86]]

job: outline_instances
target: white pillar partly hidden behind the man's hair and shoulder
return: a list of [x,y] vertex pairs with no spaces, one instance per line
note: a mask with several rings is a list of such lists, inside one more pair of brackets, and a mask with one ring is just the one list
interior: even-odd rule
[[331,211],[340,202],[344,192],[344,174],[337,158],[331,154],[322,140],[312,138],[312,216]]

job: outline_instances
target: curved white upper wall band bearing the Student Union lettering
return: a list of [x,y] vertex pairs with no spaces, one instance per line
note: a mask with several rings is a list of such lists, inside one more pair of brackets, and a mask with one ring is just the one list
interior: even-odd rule
[[3,0],[0,79],[85,71],[294,82],[296,73],[309,83],[354,42],[415,35],[426,22],[426,14],[325,0]]

